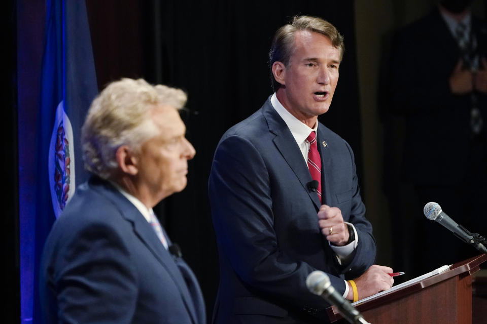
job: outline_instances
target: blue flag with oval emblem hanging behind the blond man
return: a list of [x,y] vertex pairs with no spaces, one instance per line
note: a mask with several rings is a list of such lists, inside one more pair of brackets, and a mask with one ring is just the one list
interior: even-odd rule
[[[98,93],[86,4],[79,0],[48,0],[37,134],[35,226],[20,228],[22,322],[39,317],[38,277],[44,241],[51,226],[73,197],[84,171],[81,127]],[[34,153],[34,152],[33,152]],[[35,228],[32,232],[29,228]],[[33,246],[32,246],[33,245]]]

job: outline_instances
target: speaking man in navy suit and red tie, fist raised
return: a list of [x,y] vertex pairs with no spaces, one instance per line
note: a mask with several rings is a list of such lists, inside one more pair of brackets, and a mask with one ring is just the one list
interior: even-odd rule
[[209,180],[220,256],[215,323],[328,320],[329,305],[305,285],[314,270],[350,300],[393,284],[391,268],[373,265],[352,149],[317,120],[342,54],[342,36],[320,18],[281,27],[270,51],[275,93],[218,144]]

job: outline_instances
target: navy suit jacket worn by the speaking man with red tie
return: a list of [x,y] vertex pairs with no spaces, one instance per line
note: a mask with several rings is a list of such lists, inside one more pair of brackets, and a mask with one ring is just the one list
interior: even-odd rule
[[323,203],[340,208],[358,231],[353,260],[338,265],[320,233],[321,204],[307,187],[312,179],[306,162],[269,98],[223,135],[213,161],[209,186],[221,270],[215,323],[327,318],[328,304],[308,291],[306,276],[325,271],[343,294],[344,275],[356,277],[373,264],[375,241],[364,217],[352,149],[322,124],[318,142]]

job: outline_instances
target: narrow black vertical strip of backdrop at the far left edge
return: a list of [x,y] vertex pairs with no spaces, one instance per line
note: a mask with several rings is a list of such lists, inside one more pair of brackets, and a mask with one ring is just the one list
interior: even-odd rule
[[2,87],[4,109],[4,141],[2,183],[4,204],[2,217],[2,256],[6,263],[7,278],[4,285],[5,322],[18,322],[20,318],[20,262],[19,262],[19,182],[18,182],[18,127],[17,127],[17,9],[15,1],[5,3],[1,26],[4,31],[2,71],[6,77]]

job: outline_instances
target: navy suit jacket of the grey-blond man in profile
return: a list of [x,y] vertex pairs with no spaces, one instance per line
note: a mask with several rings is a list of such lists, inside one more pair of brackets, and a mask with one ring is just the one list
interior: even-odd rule
[[97,177],[78,187],[54,223],[40,285],[49,323],[205,322],[187,264],[169,254],[130,201]]

